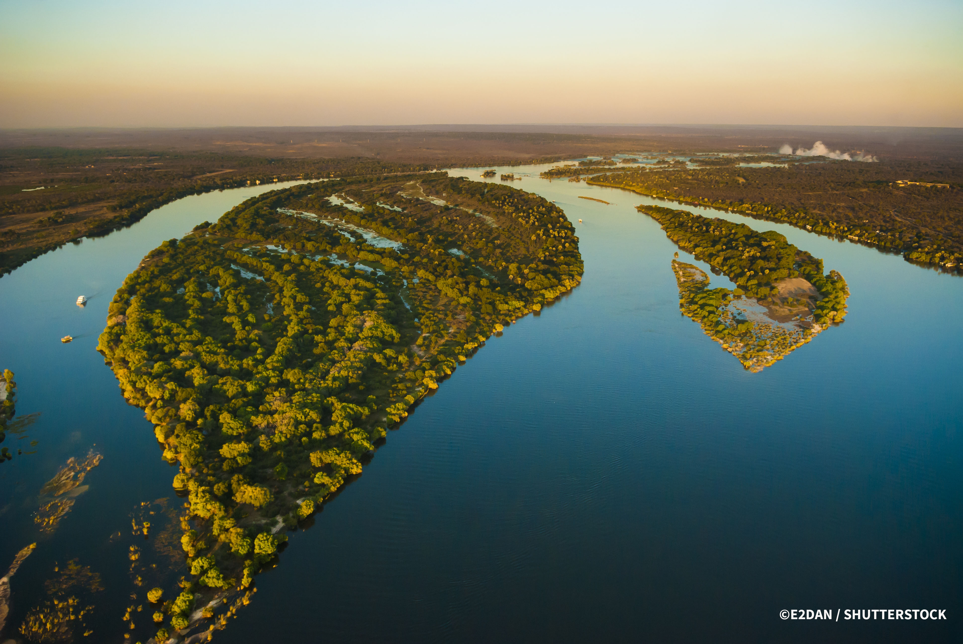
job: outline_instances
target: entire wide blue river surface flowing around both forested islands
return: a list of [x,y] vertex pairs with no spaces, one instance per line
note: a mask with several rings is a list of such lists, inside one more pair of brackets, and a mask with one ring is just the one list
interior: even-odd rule
[[[842,272],[852,293],[845,323],[750,374],[680,314],[677,248],[635,210],[664,202],[549,182],[544,168],[497,171],[522,174],[514,187],[575,223],[581,286],[491,338],[390,432],[363,476],[290,533],[216,639],[958,641],[963,279],[692,208],[779,231]],[[0,368],[16,373],[18,413],[40,413],[29,438],[4,443],[37,453],[0,465],[0,574],[39,542],[12,580],[13,627],[44,599],[55,562],[76,558],[106,588],[92,640],[153,632],[149,612],[134,613],[134,631],[121,621],[143,604],[129,599],[144,590],[128,573],[130,514],[181,501],[151,425],[95,352],[97,335],[148,250],[265,189],[186,197],[0,279]],[[81,294],[85,309],[73,303]],[[62,345],[67,333],[75,340]],[[94,444],[104,459],[90,489],[52,536],[39,535],[40,486]],[[873,608],[945,609],[948,619],[780,618]]]

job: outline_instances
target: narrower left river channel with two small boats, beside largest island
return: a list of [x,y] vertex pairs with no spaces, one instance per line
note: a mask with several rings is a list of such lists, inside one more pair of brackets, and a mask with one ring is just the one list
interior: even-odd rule
[[[141,502],[162,499],[168,508],[179,509],[181,501],[170,487],[176,470],[158,458],[143,411],[128,406],[120,396],[114,374],[95,350],[97,336],[117,287],[148,251],[275,187],[188,196],[129,228],[65,245],[0,278],[0,369],[16,374],[17,414],[40,414],[28,428],[28,438],[17,440],[8,432],[3,443],[14,453],[18,448],[37,453],[14,456],[0,465],[0,575],[6,574],[17,551],[38,542],[11,581],[13,610],[4,635],[13,636],[26,611],[46,599],[43,583],[56,577],[58,563],[77,559],[101,576],[105,590],[94,594],[88,622],[94,641],[125,641],[127,624],[120,618],[132,603],[130,593],[140,590],[139,604],[144,604],[145,590],[153,584],[170,590],[184,574],[183,570],[144,574],[141,588],[132,582],[131,545],[143,550],[140,561],[148,566],[156,563],[160,570],[169,570],[170,559],[157,556],[152,548],[166,523],[159,516],[142,517],[153,524],[155,537],[144,543],[143,537],[136,539],[132,534],[131,512]],[[84,308],[74,303],[80,295],[89,298]],[[61,344],[65,335],[73,336],[73,342]],[[31,441],[38,445],[26,445]],[[39,489],[67,458],[83,457],[91,449],[104,459],[84,479],[90,488],[77,497],[53,535],[39,534],[34,523]],[[73,593],[80,594],[76,588]],[[140,613],[139,628],[130,631],[136,637],[128,641],[146,641],[156,631],[149,628],[149,614]]]

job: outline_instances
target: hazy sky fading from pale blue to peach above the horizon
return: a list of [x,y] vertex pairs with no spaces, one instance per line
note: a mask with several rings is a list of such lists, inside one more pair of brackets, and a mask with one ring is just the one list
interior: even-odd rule
[[0,127],[963,126],[963,2],[0,0]]

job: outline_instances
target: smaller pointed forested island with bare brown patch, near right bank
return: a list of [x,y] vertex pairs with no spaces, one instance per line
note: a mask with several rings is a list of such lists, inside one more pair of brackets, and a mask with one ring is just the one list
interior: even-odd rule
[[[670,240],[738,285],[710,289],[709,276],[673,260],[679,308],[706,335],[758,372],[846,317],[846,280],[779,233],[684,210],[638,206]],[[678,254],[678,253],[676,253]]]

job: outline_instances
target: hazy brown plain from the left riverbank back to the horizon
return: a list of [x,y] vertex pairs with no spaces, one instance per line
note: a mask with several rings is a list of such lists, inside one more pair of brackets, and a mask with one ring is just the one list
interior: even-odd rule
[[[881,158],[955,159],[948,128],[486,126],[0,131],[0,274],[107,234],[186,194],[247,181],[557,161],[623,152],[775,151],[785,142]],[[39,190],[38,190],[39,189]]]

